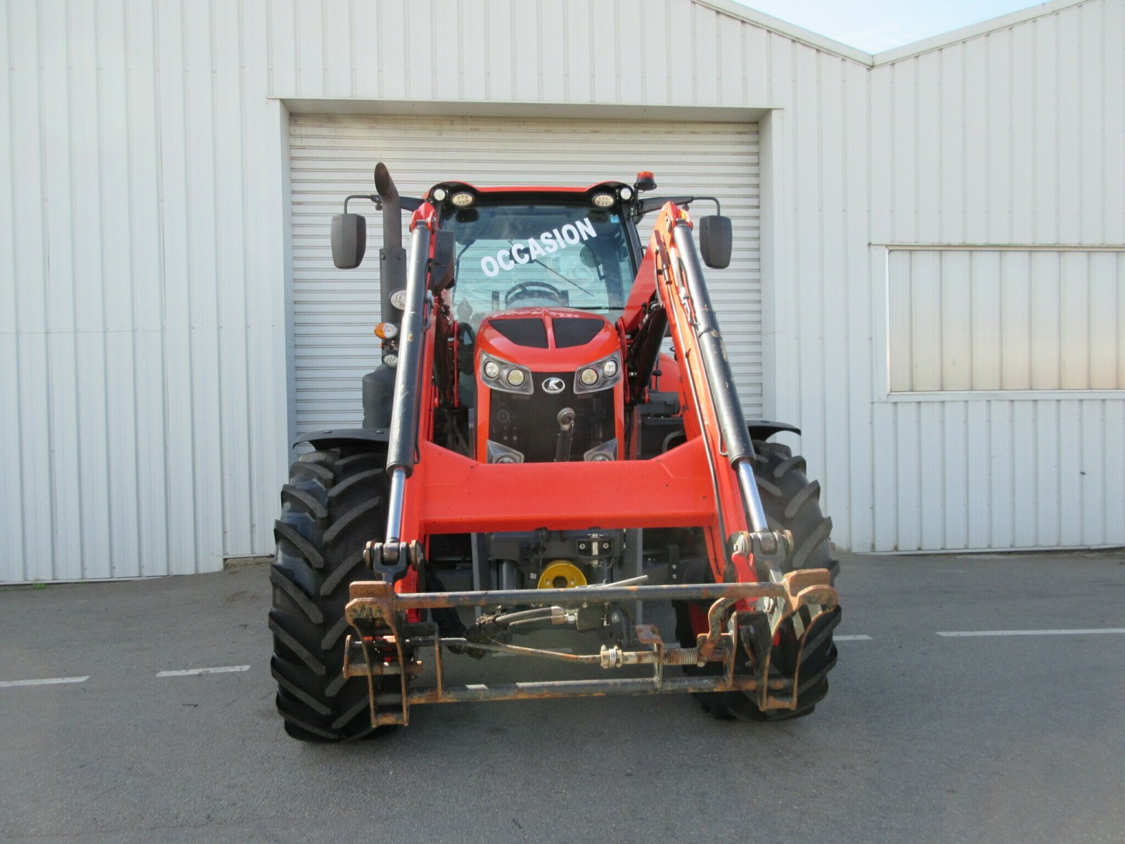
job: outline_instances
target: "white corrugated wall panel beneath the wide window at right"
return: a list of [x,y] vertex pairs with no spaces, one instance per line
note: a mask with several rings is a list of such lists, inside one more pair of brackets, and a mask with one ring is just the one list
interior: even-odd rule
[[878,405],[880,550],[1120,545],[1125,399]]

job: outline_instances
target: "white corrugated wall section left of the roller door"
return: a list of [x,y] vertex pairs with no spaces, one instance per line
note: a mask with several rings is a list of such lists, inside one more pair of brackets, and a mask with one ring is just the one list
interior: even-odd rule
[[0,3],[0,582],[271,550],[288,454],[267,3]]

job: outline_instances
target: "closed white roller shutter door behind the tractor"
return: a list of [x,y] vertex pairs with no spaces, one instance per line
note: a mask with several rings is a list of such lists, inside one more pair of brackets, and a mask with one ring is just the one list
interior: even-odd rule
[[[295,115],[289,149],[298,431],[362,420],[360,378],[379,353],[371,326],[379,320],[382,221],[369,205],[353,207],[368,215],[370,244],[369,260],[353,271],[332,266],[328,222],[343,196],[374,190],[371,171],[380,160],[407,196],[420,196],[446,179],[480,186],[585,186],[631,181],[638,170],[652,170],[659,192],[721,197],[737,236],[730,267],[711,273],[713,298],[742,404],[747,414],[760,415],[757,126]],[[420,154],[422,150],[441,154]],[[696,208],[712,212],[708,204]]]

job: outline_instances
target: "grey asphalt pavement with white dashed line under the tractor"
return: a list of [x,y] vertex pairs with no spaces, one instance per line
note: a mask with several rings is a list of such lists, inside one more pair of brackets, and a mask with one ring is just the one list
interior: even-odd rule
[[281,729],[264,566],[0,590],[0,841],[1125,842],[1125,553],[846,555],[837,585],[808,718],[456,704],[340,746]]

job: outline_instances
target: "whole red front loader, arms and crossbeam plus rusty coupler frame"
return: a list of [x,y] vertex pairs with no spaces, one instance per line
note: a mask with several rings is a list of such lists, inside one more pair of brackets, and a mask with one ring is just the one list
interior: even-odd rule
[[[590,693],[730,691],[753,694],[766,710],[794,708],[799,677],[771,679],[771,643],[780,626],[807,610],[811,621],[836,607],[836,593],[825,569],[782,575],[775,565],[791,541],[786,531],[771,531],[754,481],[754,448],[747,433],[714,309],[703,280],[687,213],[668,203],[662,209],[639,268],[622,322],[639,325],[645,313],[662,309],[683,374],[680,403],[686,441],[652,459],[605,463],[487,464],[434,441],[433,410],[439,404],[434,349],[448,341],[439,327],[450,325],[436,308],[430,284],[438,226],[435,209],[423,204],[411,222],[406,302],[396,372],[395,404],[388,442],[390,476],[384,539],[368,544],[364,562],[376,580],[351,584],[346,618],[349,637],[344,673],[366,676],[370,684],[371,724],[406,724],[412,703],[469,699],[561,697]],[[442,318],[438,318],[442,317]],[[623,327],[619,327],[623,331]],[[663,334],[663,330],[662,330]],[[623,336],[624,334],[622,334]],[[634,336],[636,342],[636,336]],[[623,343],[623,341],[622,341]],[[651,339],[649,338],[649,344]],[[582,491],[560,497],[559,490]],[[629,491],[622,495],[622,491]],[[436,533],[513,530],[702,528],[713,584],[604,584],[586,589],[431,593],[420,591],[430,538]],[[764,574],[764,576],[762,576]],[[603,646],[600,655],[582,657],[603,668],[650,665],[649,679],[558,681],[480,692],[479,686],[449,688],[442,676],[442,648],[574,662],[541,648],[498,641],[467,644],[442,639],[424,612],[436,608],[519,608],[551,604],[567,608],[621,600],[712,601],[705,632],[694,647],[665,646],[650,626],[637,627],[640,649]],[[444,643],[444,644],[443,644]],[[803,639],[802,639],[803,646]],[[456,653],[456,652],[454,652]],[[408,689],[431,654],[436,686]],[[736,673],[736,662],[753,663]],[[430,658],[430,657],[426,657]],[[684,680],[665,679],[665,665],[712,664],[719,673]],[[398,677],[398,691],[377,689],[376,679]]]

